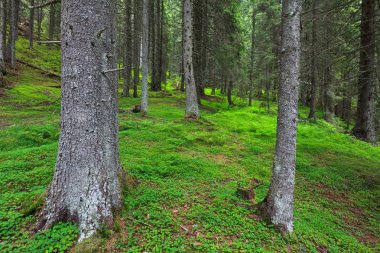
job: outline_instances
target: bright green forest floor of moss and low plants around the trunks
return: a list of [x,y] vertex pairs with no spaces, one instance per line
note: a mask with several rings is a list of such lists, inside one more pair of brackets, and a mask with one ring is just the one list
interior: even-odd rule
[[[44,46],[19,57],[59,70]],[[40,51],[41,52],[40,52]],[[202,119],[185,120],[184,94],[168,84],[150,93],[149,116],[120,98],[120,157],[128,175],[113,228],[75,245],[72,224],[31,235],[54,172],[60,84],[18,65],[0,97],[0,252],[379,252],[380,147],[353,139],[337,122],[308,122],[300,109],[294,230],[282,237],[254,209],[269,187],[276,108],[202,100]],[[209,92],[209,91],[208,91]],[[237,104],[239,100],[236,98]],[[252,179],[254,200],[236,192]]]

